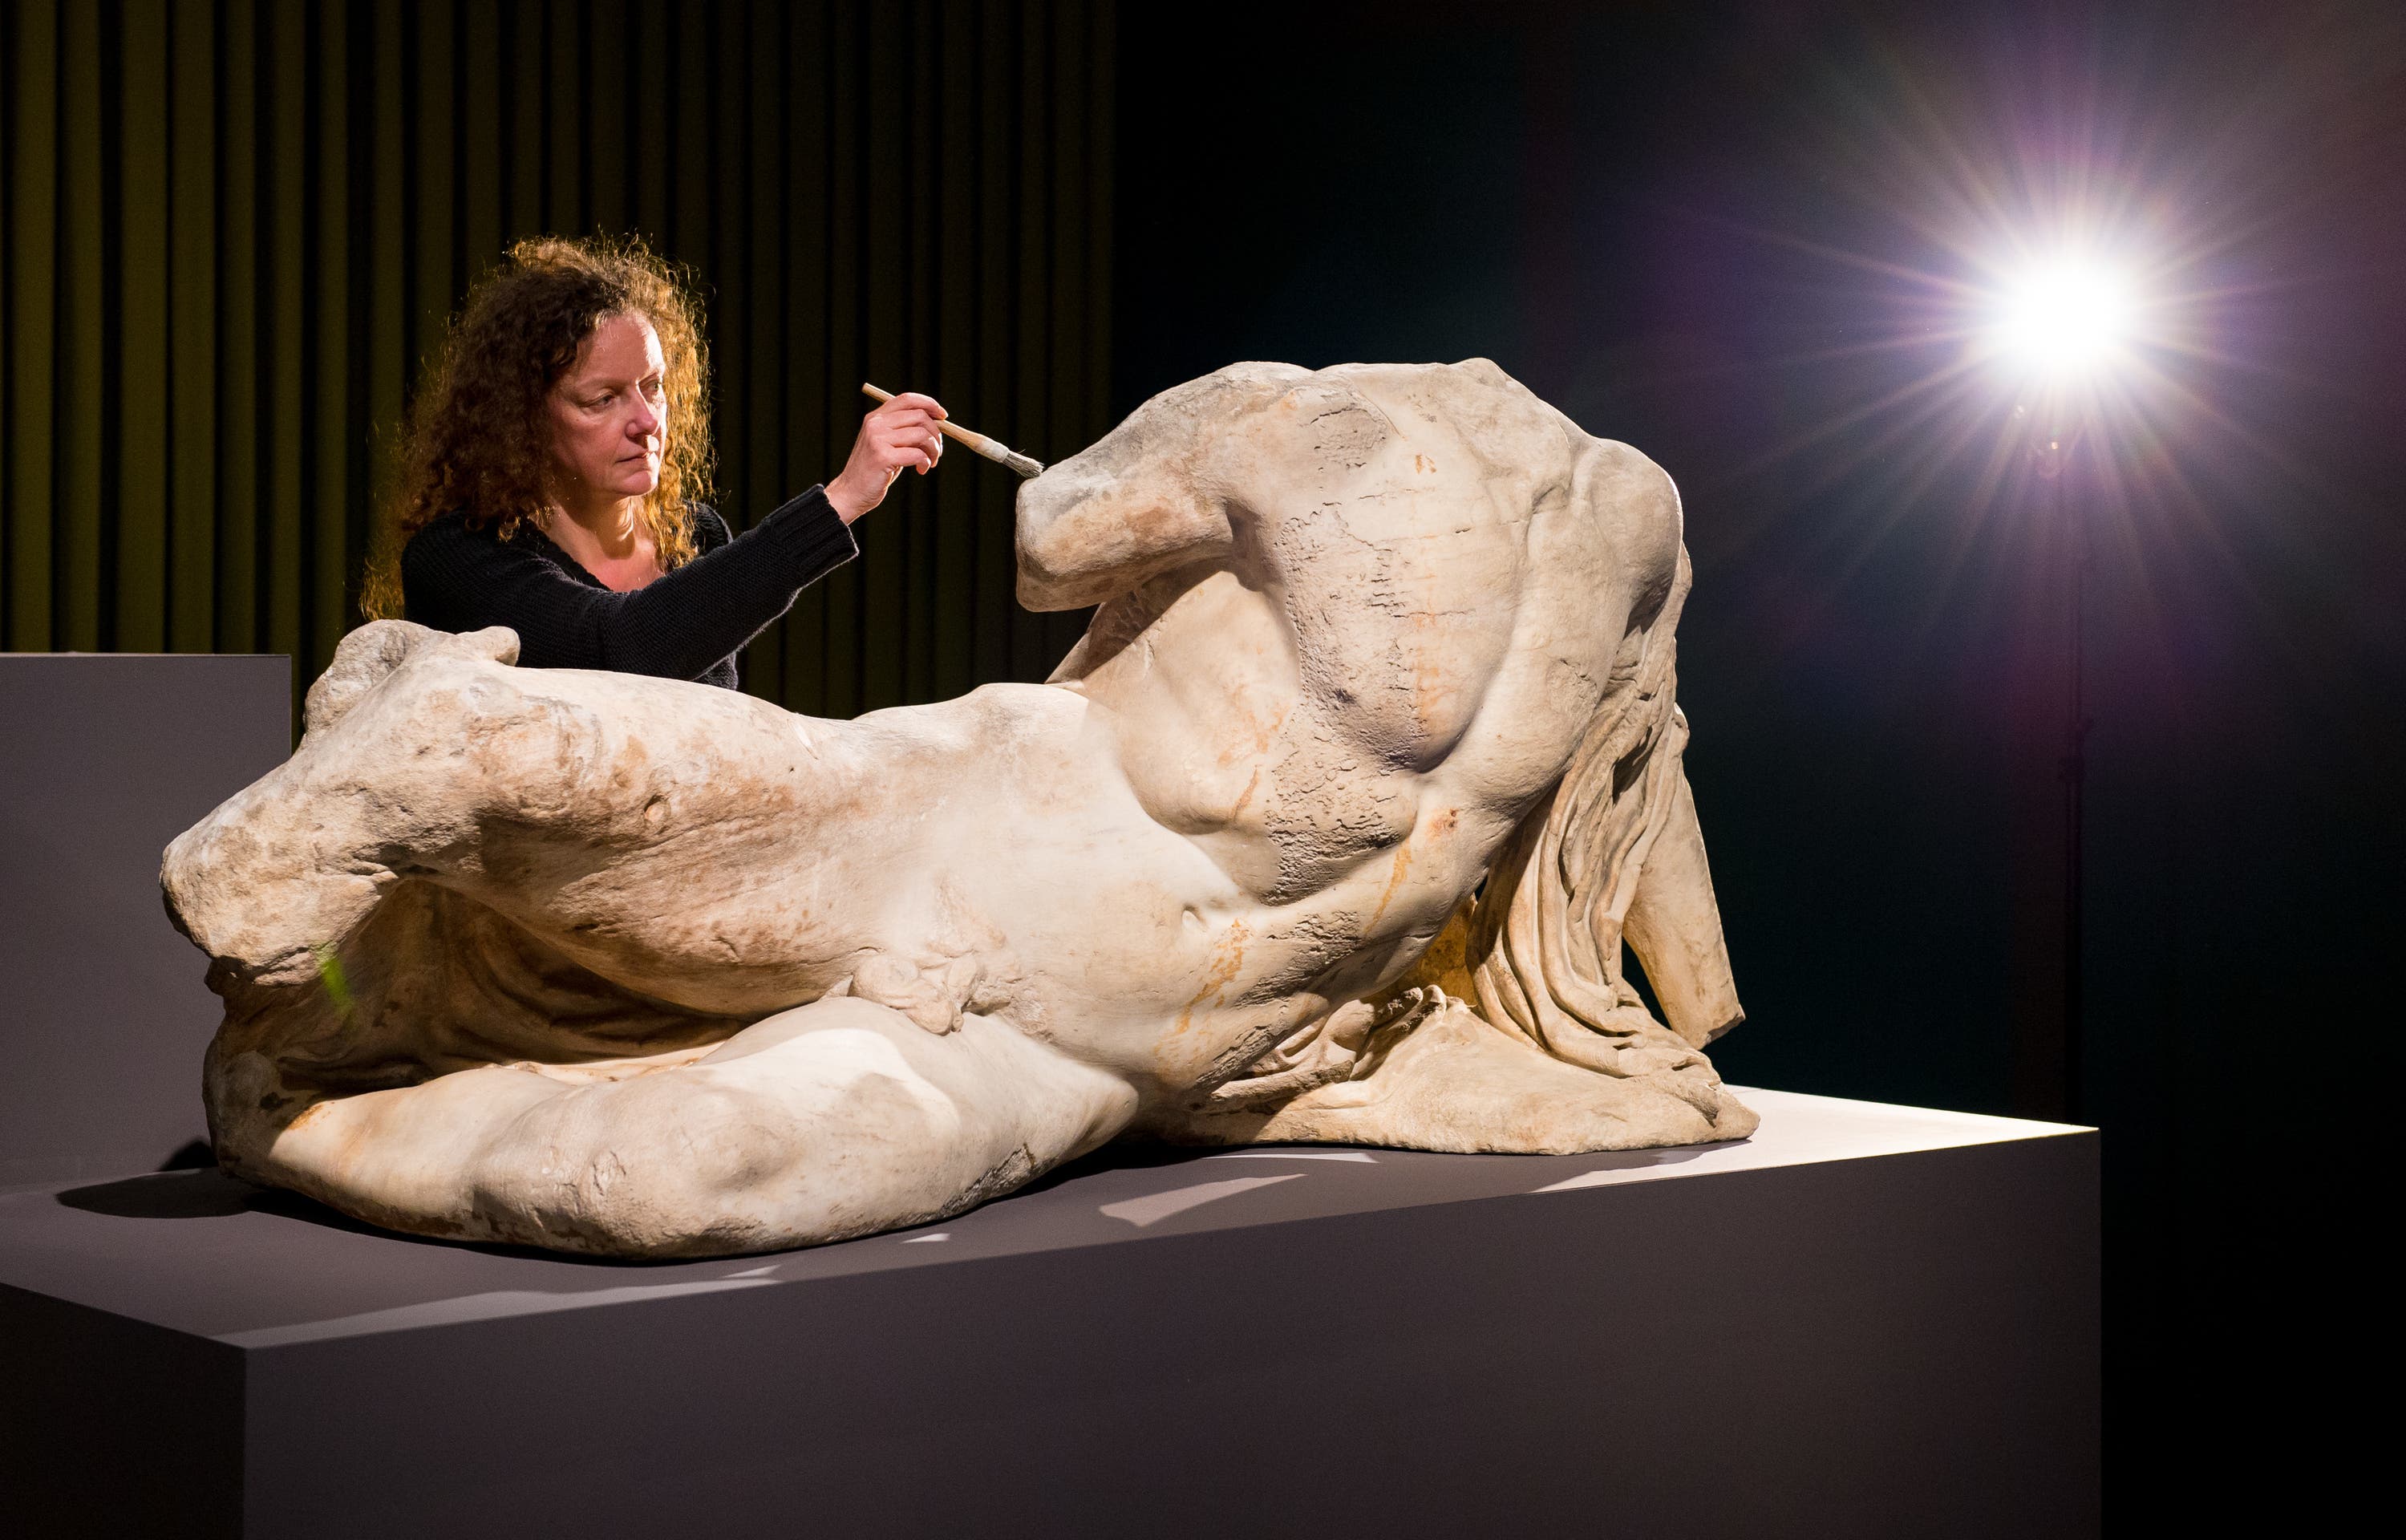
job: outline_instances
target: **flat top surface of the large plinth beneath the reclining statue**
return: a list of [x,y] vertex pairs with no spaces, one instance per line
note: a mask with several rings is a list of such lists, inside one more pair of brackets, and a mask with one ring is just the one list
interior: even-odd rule
[[808,1251],[614,1263],[399,1237],[221,1172],[156,1172],[0,1196],[0,1283],[238,1348],[411,1331],[676,1295],[962,1266],[1165,1234],[1429,1203],[1578,1201],[1631,1181],[2050,1138],[2067,1124],[1740,1090],[1754,1138],[1605,1155],[1429,1155],[1114,1145],[972,1213]]

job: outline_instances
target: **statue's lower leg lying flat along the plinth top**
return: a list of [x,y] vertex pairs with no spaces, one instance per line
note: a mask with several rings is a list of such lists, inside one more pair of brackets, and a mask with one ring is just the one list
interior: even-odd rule
[[419,1234],[724,1256],[941,1220],[1100,1145],[1133,1107],[1116,1076],[982,1015],[936,1037],[830,999],[616,1083],[488,1066],[325,1100],[250,1174]]

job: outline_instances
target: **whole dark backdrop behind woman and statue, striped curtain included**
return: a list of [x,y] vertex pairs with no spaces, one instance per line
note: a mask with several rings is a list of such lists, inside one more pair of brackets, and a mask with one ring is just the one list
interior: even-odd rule
[[[1687,498],[1689,775],[1752,1015],[1715,1061],[1983,1112],[2050,1109],[2074,546],[1999,460],[2009,390],[1930,387],[1932,298],[2115,209],[2189,339],[2067,481],[2117,1470],[2141,1432],[2211,1458],[2233,1408],[2295,1424],[2242,1379],[2360,1350],[2406,849],[2406,10],[5,22],[10,647],[289,650],[306,686],[378,433],[517,233],[695,267],[739,525],[825,474],[859,375],[1051,460],[1234,359],[1489,356]],[[748,688],[852,712],[1039,676],[1071,630],[1008,604],[1008,496],[967,460],[905,488]]]

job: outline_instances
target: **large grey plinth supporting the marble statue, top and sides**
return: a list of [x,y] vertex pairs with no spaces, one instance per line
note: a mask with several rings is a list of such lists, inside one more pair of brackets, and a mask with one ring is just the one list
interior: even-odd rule
[[2093,1533],[2096,1133],[1744,1095],[1740,1145],[1116,1150],[674,1266],[19,1191],[0,1458],[60,1533]]

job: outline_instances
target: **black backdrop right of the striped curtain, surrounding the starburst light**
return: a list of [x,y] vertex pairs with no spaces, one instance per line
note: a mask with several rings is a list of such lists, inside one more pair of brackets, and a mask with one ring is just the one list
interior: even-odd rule
[[1672,472],[1737,1083],[2048,1109],[2067,546],[1987,476],[2011,390],[1918,390],[1956,359],[1918,274],[2074,205],[2163,253],[2177,390],[2069,484],[2115,1470],[2295,1432],[2250,1384],[2380,1340],[2394,1203],[2406,10],[1215,17],[1124,22],[1119,404],[1485,354]]

